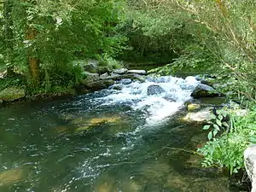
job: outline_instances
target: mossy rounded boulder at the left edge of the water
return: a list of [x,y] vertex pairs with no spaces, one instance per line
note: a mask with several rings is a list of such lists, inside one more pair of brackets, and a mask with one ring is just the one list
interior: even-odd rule
[[17,87],[8,87],[0,91],[0,101],[14,102],[26,96],[25,90]]

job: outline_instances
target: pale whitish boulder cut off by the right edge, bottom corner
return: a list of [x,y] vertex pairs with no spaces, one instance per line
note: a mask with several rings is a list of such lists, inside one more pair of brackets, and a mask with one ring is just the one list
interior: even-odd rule
[[248,177],[252,182],[251,192],[256,192],[256,144],[248,146],[244,151],[244,162]]

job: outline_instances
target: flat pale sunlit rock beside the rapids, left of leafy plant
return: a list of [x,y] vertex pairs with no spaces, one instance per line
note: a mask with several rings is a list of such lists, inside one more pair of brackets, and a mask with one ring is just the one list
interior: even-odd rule
[[203,123],[212,119],[212,108],[202,108],[198,112],[189,112],[183,118],[185,121]]

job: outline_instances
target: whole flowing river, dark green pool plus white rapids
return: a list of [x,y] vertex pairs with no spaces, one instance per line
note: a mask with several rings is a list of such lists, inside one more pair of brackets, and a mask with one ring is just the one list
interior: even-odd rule
[[[178,120],[195,79],[129,83],[0,109],[0,191],[231,191],[226,177],[175,149],[195,150],[205,138]],[[148,96],[152,84],[165,91]]]

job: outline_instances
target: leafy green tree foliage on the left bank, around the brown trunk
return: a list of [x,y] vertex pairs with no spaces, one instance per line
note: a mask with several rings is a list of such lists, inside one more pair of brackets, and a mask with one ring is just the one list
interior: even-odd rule
[[[116,32],[122,20],[122,1],[8,1],[13,9],[9,18],[3,15],[9,20],[0,23],[0,38],[4,39],[7,27],[13,38],[1,42],[0,68],[11,62],[26,74],[31,89],[47,92],[55,86],[78,84],[83,74],[73,60],[113,57],[125,49],[125,36]],[[9,44],[11,49],[6,49]],[[32,84],[29,57],[39,63],[38,88]],[[112,67],[116,67],[113,61]]]

